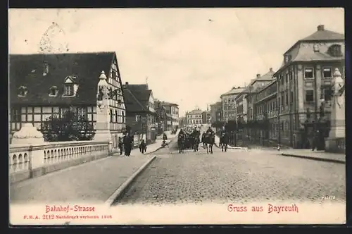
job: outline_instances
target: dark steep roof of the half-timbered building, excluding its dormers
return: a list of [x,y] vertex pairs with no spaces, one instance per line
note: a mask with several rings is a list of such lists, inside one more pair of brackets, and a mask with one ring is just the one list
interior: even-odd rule
[[[99,76],[108,77],[115,52],[75,54],[11,54],[9,83],[11,104],[96,104]],[[43,75],[44,63],[49,73]],[[64,80],[75,76],[79,85],[75,97],[62,97]],[[27,87],[26,97],[18,97],[18,88]],[[56,97],[49,97],[51,87],[58,87]]]

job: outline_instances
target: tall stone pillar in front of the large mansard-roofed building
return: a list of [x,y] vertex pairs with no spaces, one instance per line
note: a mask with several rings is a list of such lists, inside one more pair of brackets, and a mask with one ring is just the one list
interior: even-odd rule
[[338,150],[337,138],[345,138],[346,136],[345,87],[338,68],[335,69],[332,84],[334,85],[334,96],[332,98],[329,137],[325,140],[327,152],[336,152]]

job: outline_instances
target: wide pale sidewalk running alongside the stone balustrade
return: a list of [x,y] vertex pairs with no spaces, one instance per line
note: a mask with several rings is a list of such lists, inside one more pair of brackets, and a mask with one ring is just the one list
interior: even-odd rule
[[149,144],[146,154],[133,149],[131,156],[108,156],[15,183],[10,186],[11,204],[106,202],[139,168],[155,158],[151,152],[160,147],[161,142],[156,142]]

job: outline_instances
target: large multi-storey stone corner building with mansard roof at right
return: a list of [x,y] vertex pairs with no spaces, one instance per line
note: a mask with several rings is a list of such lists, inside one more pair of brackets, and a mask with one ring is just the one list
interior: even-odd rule
[[[298,40],[284,53],[282,66],[275,73],[279,142],[310,147],[314,123],[329,121],[335,68],[345,78],[344,51],[344,35],[319,25],[313,35]],[[320,116],[320,106],[324,116]]]

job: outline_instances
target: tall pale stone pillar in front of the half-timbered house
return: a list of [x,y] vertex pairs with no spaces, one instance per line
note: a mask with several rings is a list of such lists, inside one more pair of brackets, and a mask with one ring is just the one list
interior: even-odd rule
[[94,141],[109,142],[109,153],[112,151],[113,142],[110,133],[110,106],[108,103],[108,82],[104,71],[101,72],[96,94],[96,128]]

